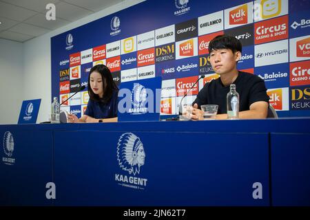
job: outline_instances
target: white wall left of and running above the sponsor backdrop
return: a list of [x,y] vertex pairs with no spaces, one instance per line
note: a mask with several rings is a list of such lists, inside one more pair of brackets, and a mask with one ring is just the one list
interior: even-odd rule
[[[41,106],[37,123],[48,120],[48,114],[50,114],[50,103],[51,103],[50,38],[52,36],[79,27],[81,25],[84,25],[85,23],[90,23],[91,21],[100,19],[114,12],[118,12],[119,10],[123,10],[142,1],[145,0],[123,1],[110,8],[91,14],[90,16],[80,19],[79,21],[70,23],[69,25],[66,25],[62,28],[59,28],[42,36],[39,36],[30,41],[26,41],[23,44],[4,43],[3,47],[5,47],[7,50],[10,50],[9,54],[7,54],[7,50],[2,49],[0,41],[0,58],[2,59],[2,56],[5,56],[3,58],[3,61],[0,60],[0,68],[1,68],[0,124],[16,124],[18,120],[19,110],[21,107],[21,101],[36,98],[41,98]],[[11,45],[12,47],[13,45],[15,45],[14,50],[12,50]],[[16,56],[20,56],[20,58],[17,58]],[[13,57],[14,59],[12,59]],[[11,61],[9,61],[10,59]],[[7,63],[8,61],[10,63]],[[2,62],[7,63],[4,70],[2,70],[3,69]],[[14,72],[14,74],[12,74],[12,76],[4,74],[8,71]],[[3,78],[2,75],[6,76]],[[23,81],[21,80],[21,76],[24,76]],[[14,87],[15,85],[18,85],[16,83],[17,80],[21,81],[18,83],[21,84],[19,85],[19,87],[22,89],[19,92],[14,91],[11,94],[11,91],[9,90],[12,89],[11,84],[14,82],[13,84]],[[3,87],[2,85],[5,85],[5,87]],[[10,97],[5,96],[5,94],[9,94],[8,91],[10,91],[10,96],[14,101],[12,101]],[[14,110],[12,111],[12,109]],[[6,111],[4,112],[4,110]],[[3,114],[2,111],[5,114]]]

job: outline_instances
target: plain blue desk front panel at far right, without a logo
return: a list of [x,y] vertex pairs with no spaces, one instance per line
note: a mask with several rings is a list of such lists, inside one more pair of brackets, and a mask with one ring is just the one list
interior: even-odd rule
[[271,133],[273,206],[310,206],[309,155],[309,133]]

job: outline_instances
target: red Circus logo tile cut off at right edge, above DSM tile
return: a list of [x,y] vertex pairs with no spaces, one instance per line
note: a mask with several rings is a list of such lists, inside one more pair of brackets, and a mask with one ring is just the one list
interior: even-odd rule
[[310,84],[310,61],[290,63],[289,85],[309,85]]

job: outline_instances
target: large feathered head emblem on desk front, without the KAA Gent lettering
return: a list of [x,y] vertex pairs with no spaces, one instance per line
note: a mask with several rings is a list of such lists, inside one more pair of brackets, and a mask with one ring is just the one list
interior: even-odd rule
[[145,162],[145,151],[139,137],[133,133],[123,133],[117,144],[118,165],[131,175],[140,173]]

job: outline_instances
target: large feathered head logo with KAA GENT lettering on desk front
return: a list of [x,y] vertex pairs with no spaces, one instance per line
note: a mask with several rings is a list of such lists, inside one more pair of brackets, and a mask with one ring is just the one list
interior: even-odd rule
[[141,166],[145,163],[145,151],[139,137],[134,133],[123,133],[118,139],[116,157],[118,166],[129,175],[115,174],[118,185],[144,189],[147,179],[135,177],[140,174]]

